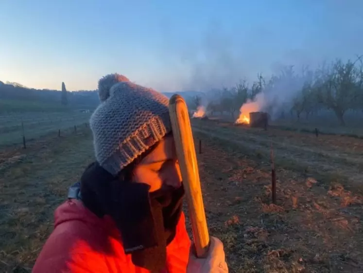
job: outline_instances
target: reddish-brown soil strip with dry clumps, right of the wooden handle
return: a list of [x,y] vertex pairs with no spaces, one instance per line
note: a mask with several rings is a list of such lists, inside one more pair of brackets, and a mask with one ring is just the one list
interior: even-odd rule
[[268,162],[194,133],[208,226],[225,243],[230,272],[362,272],[362,195],[278,168],[271,204]]

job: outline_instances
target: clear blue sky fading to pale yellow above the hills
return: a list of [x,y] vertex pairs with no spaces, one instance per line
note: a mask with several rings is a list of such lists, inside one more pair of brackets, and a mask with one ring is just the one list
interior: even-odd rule
[[363,54],[363,0],[1,0],[0,80],[204,89]]

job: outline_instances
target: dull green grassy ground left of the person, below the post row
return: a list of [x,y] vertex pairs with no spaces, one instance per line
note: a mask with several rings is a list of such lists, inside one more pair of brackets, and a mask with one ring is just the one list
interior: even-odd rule
[[0,272],[30,272],[53,211],[93,158],[87,130],[0,151]]

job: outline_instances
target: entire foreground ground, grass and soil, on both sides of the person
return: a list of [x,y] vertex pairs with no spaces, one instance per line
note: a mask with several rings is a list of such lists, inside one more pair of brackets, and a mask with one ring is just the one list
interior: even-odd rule
[[[210,235],[224,242],[231,273],[363,272],[363,140],[193,126]],[[86,129],[0,150],[1,273],[31,271],[54,209],[92,160]]]

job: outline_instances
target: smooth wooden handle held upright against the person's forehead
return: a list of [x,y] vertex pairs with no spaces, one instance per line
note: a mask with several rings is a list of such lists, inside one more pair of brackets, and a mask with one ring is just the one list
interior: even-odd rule
[[197,257],[202,258],[205,257],[208,251],[209,234],[188,108],[180,95],[175,94],[170,98],[169,114],[176,154],[188,202],[195,251]]

